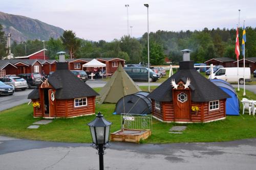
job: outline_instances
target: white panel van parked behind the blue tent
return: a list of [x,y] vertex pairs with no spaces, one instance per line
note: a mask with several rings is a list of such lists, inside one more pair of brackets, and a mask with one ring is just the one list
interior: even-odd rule
[[245,69],[243,67],[220,68],[215,72],[215,74],[212,75],[212,79],[221,79],[225,80],[226,82],[238,82],[239,79],[239,84],[244,84],[243,78],[245,78],[246,82],[251,81],[249,67],[245,67]]

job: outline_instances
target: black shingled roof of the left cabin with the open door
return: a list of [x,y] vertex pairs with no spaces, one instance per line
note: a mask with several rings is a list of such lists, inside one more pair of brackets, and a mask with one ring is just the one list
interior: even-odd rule
[[[57,63],[57,70],[48,78],[48,82],[56,89],[56,99],[75,99],[99,95],[68,70],[68,63]],[[33,90],[28,96],[28,99],[38,98],[38,89]]]

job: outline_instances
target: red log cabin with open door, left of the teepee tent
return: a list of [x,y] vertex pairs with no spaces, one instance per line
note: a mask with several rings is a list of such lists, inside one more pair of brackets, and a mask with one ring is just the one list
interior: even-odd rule
[[56,71],[29,95],[34,117],[76,117],[95,113],[95,98],[99,95],[68,69],[68,63],[56,63]]

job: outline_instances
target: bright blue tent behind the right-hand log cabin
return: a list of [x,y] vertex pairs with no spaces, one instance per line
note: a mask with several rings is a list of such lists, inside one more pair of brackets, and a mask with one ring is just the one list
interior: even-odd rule
[[231,84],[219,79],[213,79],[210,81],[231,96],[231,98],[227,98],[226,101],[226,115],[239,115],[240,104],[238,95]]

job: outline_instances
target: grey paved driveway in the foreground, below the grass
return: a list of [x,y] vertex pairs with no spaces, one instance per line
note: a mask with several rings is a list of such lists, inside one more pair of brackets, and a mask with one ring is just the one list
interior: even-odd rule
[[[170,135],[170,134],[168,134]],[[255,169],[256,139],[211,143],[111,143],[105,169]],[[0,136],[0,169],[98,169],[87,143],[63,143]]]

